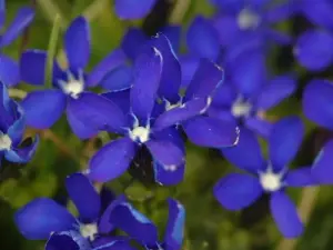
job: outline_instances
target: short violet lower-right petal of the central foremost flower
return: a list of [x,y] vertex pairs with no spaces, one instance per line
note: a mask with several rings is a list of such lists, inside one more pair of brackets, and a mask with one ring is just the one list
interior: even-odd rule
[[182,148],[171,140],[151,139],[145,142],[153,160],[164,166],[179,166],[184,162],[185,156]]

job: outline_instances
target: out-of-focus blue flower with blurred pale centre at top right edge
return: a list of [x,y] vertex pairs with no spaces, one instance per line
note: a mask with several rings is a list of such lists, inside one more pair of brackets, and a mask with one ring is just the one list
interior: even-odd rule
[[268,42],[289,44],[290,36],[272,28],[295,13],[294,4],[286,2],[269,6],[263,1],[224,1],[212,0],[221,10],[213,22],[219,31],[220,43],[230,47],[238,41],[260,40],[264,47]]

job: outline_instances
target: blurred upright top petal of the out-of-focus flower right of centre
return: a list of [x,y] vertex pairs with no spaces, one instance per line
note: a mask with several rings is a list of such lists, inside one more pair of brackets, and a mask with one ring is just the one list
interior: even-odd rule
[[266,81],[264,56],[258,51],[239,56],[231,70],[232,82],[245,98],[256,94]]

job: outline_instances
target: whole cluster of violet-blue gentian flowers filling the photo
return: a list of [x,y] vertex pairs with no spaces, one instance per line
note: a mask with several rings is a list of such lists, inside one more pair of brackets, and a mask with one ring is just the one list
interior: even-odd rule
[[[115,0],[120,19],[147,16],[155,0]],[[164,27],[154,37],[131,28],[120,47],[90,72],[90,28],[75,18],[64,32],[67,66],[52,63],[51,84],[46,82],[48,52],[29,49],[19,62],[0,53],[0,157],[27,163],[39,138],[21,141],[26,127],[50,129],[65,112],[72,132],[89,139],[101,131],[117,139],[100,148],[87,170],[65,179],[69,197],[79,216],[49,198],[38,198],[14,216],[19,231],[30,240],[47,240],[48,250],[180,250],[185,209],[170,198],[163,239],[157,226],[137,210],[125,196],[110,196],[94,183],[112,181],[129,170],[135,157],[149,157],[153,181],[175,186],[184,178],[185,140],[214,148],[243,172],[230,173],[213,187],[215,199],[229,210],[241,210],[264,193],[270,194],[272,217],[286,238],[299,237],[303,224],[286,196],[289,187],[333,183],[333,141],[329,141],[313,166],[290,169],[303,137],[299,117],[275,122],[265,111],[292,96],[295,72],[272,76],[266,57],[276,46],[294,46],[296,60],[309,70],[323,70],[333,61],[333,4],[329,0],[296,0],[272,6],[269,0],[211,0],[218,14],[196,17],[185,32],[188,52],[180,49],[181,27]],[[316,4],[316,8],[312,8]],[[313,24],[294,41],[273,28],[295,14]],[[30,8],[19,10],[0,36],[0,48],[11,43],[33,20]],[[4,24],[0,0],[0,27]],[[21,101],[9,97],[19,82],[36,86]],[[43,87],[43,86],[51,86]],[[104,89],[102,93],[91,90]],[[333,84],[314,79],[303,92],[303,111],[319,126],[333,129]],[[269,157],[259,138],[268,141]],[[144,152],[144,153],[142,153]],[[149,176],[143,163],[135,162]],[[331,172],[332,171],[332,172]],[[103,206],[104,204],[104,206]],[[119,233],[121,231],[122,233]]]

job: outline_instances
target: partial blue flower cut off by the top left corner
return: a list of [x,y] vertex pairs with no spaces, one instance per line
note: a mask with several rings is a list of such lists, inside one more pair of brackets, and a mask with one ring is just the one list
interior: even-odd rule
[[[0,51],[16,40],[24,29],[31,23],[34,17],[34,10],[29,7],[19,9],[14,20],[0,34]],[[0,0],[0,29],[4,28],[6,22],[6,1]],[[0,53],[0,81],[6,86],[12,87],[19,83],[18,63],[11,58]]]

